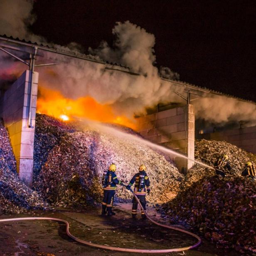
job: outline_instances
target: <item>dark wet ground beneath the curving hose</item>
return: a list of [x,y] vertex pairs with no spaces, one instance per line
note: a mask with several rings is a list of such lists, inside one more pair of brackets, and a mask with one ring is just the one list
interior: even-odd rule
[[[74,236],[98,244],[136,249],[169,249],[190,246],[196,242],[191,236],[178,231],[165,230],[148,220],[136,220],[130,217],[131,204],[115,205],[116,216],[101,216],[101,206],[84,209],[57,209],[51,212],[34,212],[34,217],[54,217],[66,219],[70,224],[70,232]],[[153,205],[148,212],[155,219],[167,223],[155,211]],[[32,217],[31,215],[1,215],[0,219]],[[0,255],[1,256],[73,256],[73,255],[138,255],[107,251],[85,246],[73,241],[66,235],[66,225],[54,221],[20,221],[0,223]],[[142,255],[188,255],[188,256],[235,256],[235,252],[216,249],[214,245],[203,240],[199,248],[169,254]]]

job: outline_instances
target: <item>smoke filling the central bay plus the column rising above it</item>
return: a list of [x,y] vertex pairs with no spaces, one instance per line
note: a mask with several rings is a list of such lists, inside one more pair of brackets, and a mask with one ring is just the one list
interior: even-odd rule
[[[61,64],[51,68],[54,73],[40,73],[44,86],[59,89],[67,97],[91,96],[99,103],[112,105],[116,113],[129,117],[145,113],[145,107],[159,101],[168,102],[176,97],[170,84],[162,83],[158,69],[153,66],[154,35],[128,21],[117,22],[113,34],[116,36],[114,48],[102,42],[98,49],[89,49],[89,52],[105,61],[129,67],[123,70],[143,75],[110,71],[103,64],[58,56],[52,60],[61,60]],[[52,58],[52,54],[48,56]]]

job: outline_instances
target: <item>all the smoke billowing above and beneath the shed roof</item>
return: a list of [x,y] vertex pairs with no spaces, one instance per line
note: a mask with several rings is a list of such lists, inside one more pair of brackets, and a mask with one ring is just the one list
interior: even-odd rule
[[[28,26],[35,20],[32,9],[32,0],[2,0],[0,2],[0,34],[25,38],[32,42],[46,42],[43,37],[28,30]],[[161,77],[179,79],[179,75],[169,68],[161,67],[158,70],[153,65],[155,62],[153,34],[129,21],[117,22],[112,32],[115,36],[113,47],[107,42],[102,42],[98,49],[89,48],[89,57],[118,63],[127,68],[45,53],[44,62],[59,64],[37,70],[40,73],[39,86],[61,91],[67,98],[91,96],[98,103],[111,106],[115,113],[125,114],[129,118],[134,113],[145,113],[145,108],[158,103],[183,101],[174,93],[174,91],[182,93],[182,87],[161,80]],[[79,52],[79,47],[75,43],[68,47],[54,44],[52,46]],[[1,77],[3,74],[8,76],[25,70],[26,67],[23,64],[13,62],[13,59],[6,57],[2,52],[0,54]],[[111,68],[140,75],[114,71]],[[256,106],[251,103],[208,95],[207,98],[194,101],[193,104],[197,118],[217,123],[241,119],[256,120]]]

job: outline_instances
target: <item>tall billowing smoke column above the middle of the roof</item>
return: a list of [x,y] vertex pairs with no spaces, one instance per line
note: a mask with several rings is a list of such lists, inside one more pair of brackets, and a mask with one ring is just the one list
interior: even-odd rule
[[99,49],[91,49],[91,52],[106,61],[130,67],[135,73],[158,75],[158,69],[152,64],[155,62],[153,34],[129,21],[116,22],[112,33],[116,37],[114,48],[109,47],[107,42],[102,42]]

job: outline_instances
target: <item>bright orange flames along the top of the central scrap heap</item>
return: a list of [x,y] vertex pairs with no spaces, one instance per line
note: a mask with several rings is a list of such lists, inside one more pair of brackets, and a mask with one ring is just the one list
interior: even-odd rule
[[136,128],[135,121],[126,116],[115,116],[109,105],[102,105],[89,96],[76,100],[65,98],[59,91],[39,86],[37,113],[69,121],[72,116],[89,118],[104,123],[116,123]]

